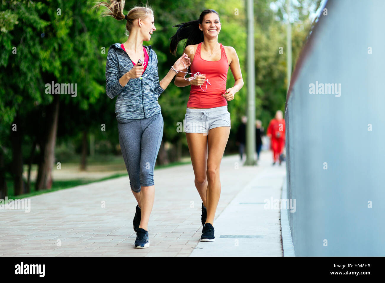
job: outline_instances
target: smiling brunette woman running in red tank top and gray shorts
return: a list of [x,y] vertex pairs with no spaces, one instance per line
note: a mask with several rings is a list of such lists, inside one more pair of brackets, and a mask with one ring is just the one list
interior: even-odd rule
[[[235,49],[218,42],[221,22],[216,11],[204,10],[198,20],[175,27],[178,29],[171,38],[170,51],[175,55],[179,41],[187,39],[184,54],[191,60],[190,72],[177,71],[174,84],[191,85],[185,131],[194,183],[202,199],[200,240],[214,241],[213,224],[221,194],[219,167],[231,127],[227,102],[233,100],[243,86],[241,67]],[[235,83],[226,89],[229,67]],[[185,77],[186,73],[191,77]]]

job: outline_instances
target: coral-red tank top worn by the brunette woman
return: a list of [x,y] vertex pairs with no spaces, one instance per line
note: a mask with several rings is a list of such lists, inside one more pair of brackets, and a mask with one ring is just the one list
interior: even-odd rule
[[222,96],[226,93],[226,80],[229,70],[229,62],[226,57],[224,47],[221,45],[221,59],[218,61],[208,61],[201,57],[201,45],[198,44],[194,59],[192,60],[190,69],[191,73],[195,74],[200,72],[206,75],[206,80],[209,80],[210,84],[204,82],[201,86],[191,85],[189,100],[187,101],[187,107],[197,108],[213,108],[219,106],[226,106],[227,100]]

